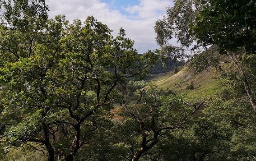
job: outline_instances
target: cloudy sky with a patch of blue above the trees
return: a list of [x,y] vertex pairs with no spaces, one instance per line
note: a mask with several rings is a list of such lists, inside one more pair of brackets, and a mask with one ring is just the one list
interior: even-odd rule
[[113,30],[113,36],[124,28],[126,37],[135,41],[134,48],[142,54],[159,48],[154,23],[163,17],[172,0],[48,0],[48,5],[50,18],[65,14],[72,22],[94,16]]

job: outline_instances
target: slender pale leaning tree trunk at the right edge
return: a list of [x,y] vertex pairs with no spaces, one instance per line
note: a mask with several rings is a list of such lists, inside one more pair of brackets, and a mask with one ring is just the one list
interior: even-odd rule
[[240,64],[238,58],[237,58],[237,55],[235,53],[233,53],[232,55],[230,53],[228,53],[228,55],[232,58],[232,60],[234,61],[237,69],[239,70],[240,74],[241,74],[241,77],[242,77],[242,82],[244,84],[244,88],[246,90],[246,93],[247,93],[247,96],[250,100],[250,103],[251,103],[251,106],[252,106],[252,109],[254,110],[254,112],[256,113],[256,101],[255,99],[252,97],[252,92],[251,92],[251,87],[248,83],[248,80],[244,74],[244,69],[242,67],[242,65]]

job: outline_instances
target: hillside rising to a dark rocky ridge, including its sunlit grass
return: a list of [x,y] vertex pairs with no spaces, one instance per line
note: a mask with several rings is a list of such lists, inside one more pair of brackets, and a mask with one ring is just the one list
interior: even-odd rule
[[[184,93],[191,99],[216,94],[223,85],[218,79],[217,70],[210,64],[215,63],[215,65],[219,65],[220,60],[231,61],[227,55],[219,55],[217,48],[212,46],[208,51],[197,55],[186,63],[178,73],[175,74],[172,70],[167,73],[158,74],[152,81],[163,90],[170,89],[175,93]],[[200,72],[198,72],[198,69],[191,69],[196,61],[200,68],[205,66]]]

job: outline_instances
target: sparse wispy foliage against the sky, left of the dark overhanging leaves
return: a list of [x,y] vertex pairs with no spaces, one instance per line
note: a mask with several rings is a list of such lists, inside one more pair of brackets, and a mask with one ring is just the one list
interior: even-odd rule
[[[161,46],[157,53],[164,63],[169,58],[187,60],[190,51],[197,54],[204,49],[200,44],[195,45],[196,38],[189,33],[202,6],[201,0],[174,0],[173,6],[167,7],[167,15],[155,22],[156,41]],[[170,40],[177,43],[171,44]]]

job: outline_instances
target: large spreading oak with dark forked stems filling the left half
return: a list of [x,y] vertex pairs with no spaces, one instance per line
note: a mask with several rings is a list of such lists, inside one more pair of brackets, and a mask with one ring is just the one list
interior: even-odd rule
[[116,86],[143,77],[152,53],[139,56],[124,29],[114,38],[93,17],[37,20],[1,25],[2,140],[72,161],[112,108]]

